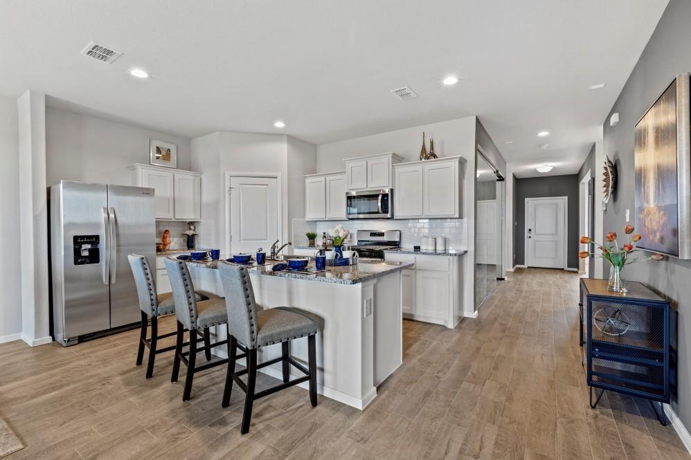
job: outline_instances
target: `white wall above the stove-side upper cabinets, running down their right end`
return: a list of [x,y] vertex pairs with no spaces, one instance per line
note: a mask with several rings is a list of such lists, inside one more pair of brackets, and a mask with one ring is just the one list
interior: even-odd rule
[[[379,154],[394,151],[404,161],[420,160],[422,131],[429,142],[434,138],[434,151],[437,156],[463,156],[463,217],[467,223],[468,253],[463,256],[463,310],[467,315],[474,311],[474,273],[475,273],[475,152],[476,117],[470,116],[431,125],[397,129],[386,133],[361,138],[330,142],[317,145],[317,172],[341,171],[344,158]],[[428,145],[429,149],[429,145]],[[503,159],[496,160],[503,163]]]

